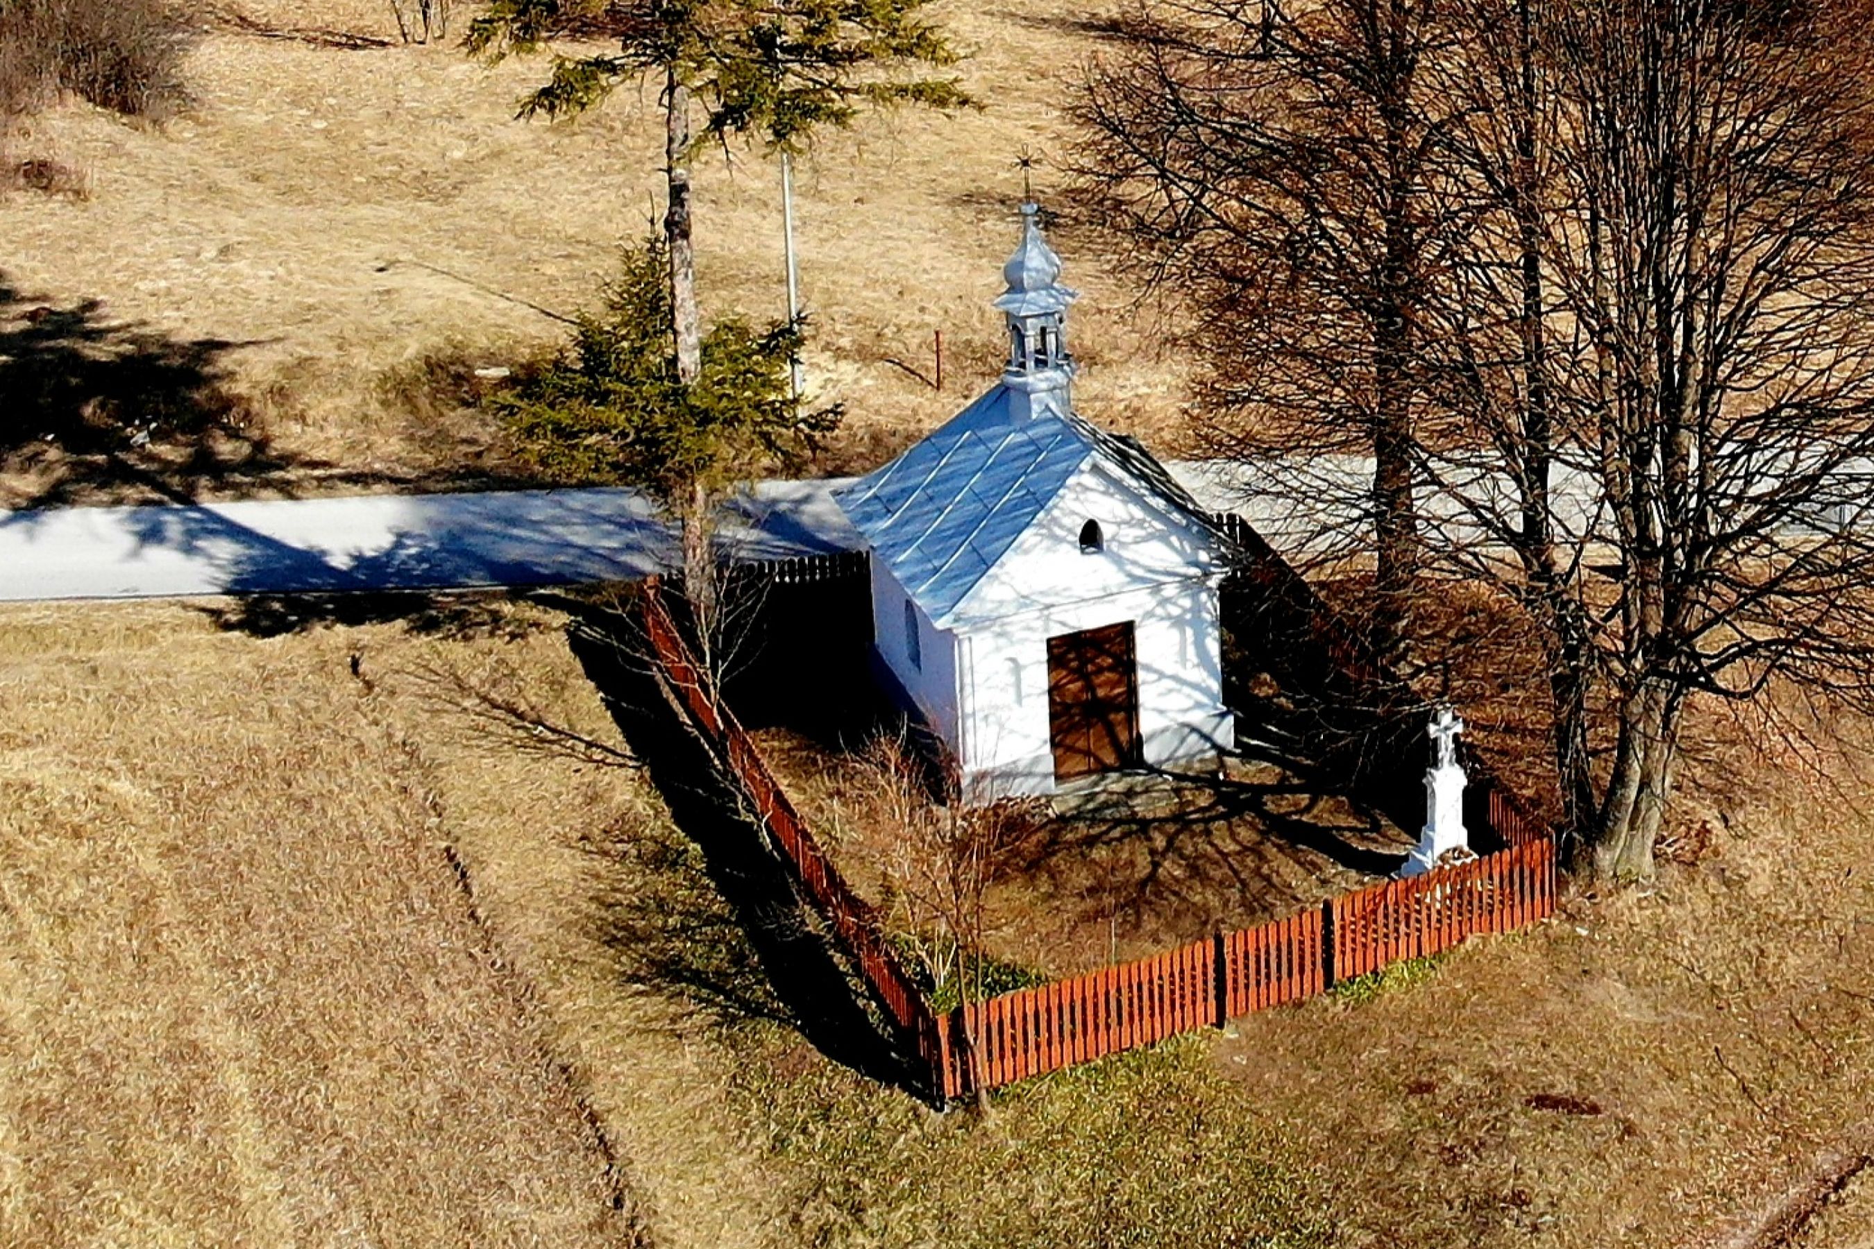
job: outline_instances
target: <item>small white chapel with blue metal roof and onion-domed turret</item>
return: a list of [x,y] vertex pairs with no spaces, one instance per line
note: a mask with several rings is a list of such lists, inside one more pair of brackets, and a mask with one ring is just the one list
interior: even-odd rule
[[1074,412],[1061,258],[1038,208],[995,301],[986,395],[836,500],[871,549],[877,657],[963,794],[1051,794],[1233,745],[1224,537],[1138,442]]

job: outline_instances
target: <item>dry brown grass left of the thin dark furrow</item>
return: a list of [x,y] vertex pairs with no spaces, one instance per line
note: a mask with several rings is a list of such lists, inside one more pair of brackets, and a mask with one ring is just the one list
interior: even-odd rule
[[0,1242],[624,1243],[347,640],[0,614]]

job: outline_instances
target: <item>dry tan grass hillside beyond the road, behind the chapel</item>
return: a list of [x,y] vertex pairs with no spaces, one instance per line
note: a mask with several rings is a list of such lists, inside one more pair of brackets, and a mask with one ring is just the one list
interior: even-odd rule
[[[238,345],[229,386],[281,466],[202,492],[512,470],[485,419],[401,403],[380,380],[437,352],[500,363],[560,335],[527,303],[590,303],[620,242],[643,234],[662,167],[654,96],[521,124],[513,101],[543,62],[487,69],[452,47],[379,45],[395,36],[386,4],[244,0],[216,13],[184,67],[191,105],[165,129],[81,107],[34,122],[22,150],[94,170],[92,197],[0,202],[4,277],[26,301],[96,298],[109,316]],[[1064,155],[1063,90],[1098,47],[1098,13],[1057,0],[948,0],[937,15],[973,52],[963,75],[986,109],[866,120],[796,174],[808,376],[849,410],[821,464],[830,472],[879,463],[993,380],[1003,335],[989,300],[1014,243],[1014,157],[1023,144]],[[1044,172],[1038,189],[1057,182]],[[706,309],[781,313],[772,163],[703,157],[697,243]],[[1179,449],[1181,367],[1111,270],[1078,242],[1066,253],[1085,290],[1083,408]],[[900,367],[930,375],[937,330],[944,393]],[[36,498],[60,472],[71,466],[15,464],[0,502]],[[135,487],[90,496],[107,492]]]

